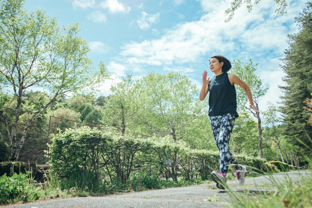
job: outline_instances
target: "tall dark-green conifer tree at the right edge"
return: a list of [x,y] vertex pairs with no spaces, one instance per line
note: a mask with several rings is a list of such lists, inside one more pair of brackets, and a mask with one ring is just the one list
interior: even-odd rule
[[283,122],[282,134],[287,135],[292,145],[301,148],[301,153],[311,156],[312,126],[307,124],[309,112],[304,109],[306,98],[312,98],[312,3],[296,18],[299,33],[289,35],[289,48],[282,59],[282,69],[285,86],[280,86],[284,92],[281,113]]

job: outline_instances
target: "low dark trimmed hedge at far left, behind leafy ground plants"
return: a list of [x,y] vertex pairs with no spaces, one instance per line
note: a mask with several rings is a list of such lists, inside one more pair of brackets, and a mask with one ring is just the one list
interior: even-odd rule
[[14,173],[20,174],[20,172],[26,173],[26,170],[28,170],[28,164],[24,162],[7,161],[0,163],[0,176],[4,175],[5,173],[7,176],[12,176]]

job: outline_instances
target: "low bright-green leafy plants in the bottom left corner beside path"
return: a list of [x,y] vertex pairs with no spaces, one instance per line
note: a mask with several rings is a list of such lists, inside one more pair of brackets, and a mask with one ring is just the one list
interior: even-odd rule
[[8,204],[19,201],[31,201],[39,199],[38,191],[33,184],[28,183],[28,174],[14,173],[12,177],[6,174],[0,176],[0,204]]

